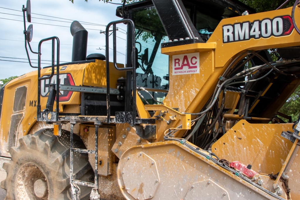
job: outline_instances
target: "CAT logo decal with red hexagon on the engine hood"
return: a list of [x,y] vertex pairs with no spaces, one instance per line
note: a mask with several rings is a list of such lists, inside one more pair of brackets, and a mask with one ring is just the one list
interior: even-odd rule
[[[44,76],[43,76],[44,77]],[[49,85],[56,84],[56,74],[54,74],[51,80],[41,80],[41,96],[49,96]],[[59,83],[60,85],[75,85],[72,75],[70,73],[59,74]],[[59,91],[59,101],[68,101],[70,100],[73,91]]]

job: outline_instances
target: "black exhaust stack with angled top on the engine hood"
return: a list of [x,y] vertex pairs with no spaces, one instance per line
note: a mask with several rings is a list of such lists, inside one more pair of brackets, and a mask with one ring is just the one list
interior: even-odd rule
[[86,59],[88,31],[78,22],[73,21],[70,27],[73,36],[72,62]]

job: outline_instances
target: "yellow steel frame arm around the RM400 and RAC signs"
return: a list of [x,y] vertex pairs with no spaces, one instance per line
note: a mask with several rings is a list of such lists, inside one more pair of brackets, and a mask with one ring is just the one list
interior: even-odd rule
[[[276,16],[290,15],[292,8],[274,10],[264,13],[256,13],[245,16],[232,17],[223,19],[214,33],[211,35],[207,43],[174,46],[162,48],[161,51],[171,55],[170,60],[170,90],[164,99],[164,105],[171,108],[179,108],[179,112],[196,113],[199,112],[207,100],[211,97],[217,85],[220,76],[227,69],[234,58],[239,57],[241,53],[247,50],[262,50],[270,48],[279,48],[287,46],[300,46],[300,35],[293,30],[288,36],[269,37],[260,39],[250,39],[247,41],[223,43],[223,25],[235,24],[239,22],[253,22],[255,20],[275,18]],[[300,18],[300,8],[296,8],[295,18]],[[300,26],[298,20],[297,25]],[[215,47],[213,44],[215,43]],[[211,46],[210,46],[211,45]],[[191,52],[199,52],[200,73],[175,75],[172,74],[172,55],[186,54]],[[241,56],[242,58],[243,56]],[[276,108],[280,105],[274,105]],[[264,117],[264,116],[262,116]],[[173,124],[176,127],[178,124]],[[162,135],[161,131],[166,130],[170,126],[161,123],[158,135]],[[181,137],[182,131],[178,131],[175,137]],[[160,141],[162,138],[158,138]]]

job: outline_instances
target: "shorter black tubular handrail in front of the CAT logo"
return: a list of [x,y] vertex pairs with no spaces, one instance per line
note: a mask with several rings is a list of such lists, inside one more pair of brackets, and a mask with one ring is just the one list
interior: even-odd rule
[[[52,64],[51,64],[51,74],[49,76],[41,77],[41,45],[45,41],[52,40]],[[56,52],[56,121],[58,120],[58,113],[59,113],[59,39],[58,37],[48,37],[42,39],[38,44],[38,108],[37,113],[38,117],[41,113],[41,80],[51,79],[54,75],[55,64],[54,64],[54,51],[55,51],[55,40],[57,42],[57,52]]]

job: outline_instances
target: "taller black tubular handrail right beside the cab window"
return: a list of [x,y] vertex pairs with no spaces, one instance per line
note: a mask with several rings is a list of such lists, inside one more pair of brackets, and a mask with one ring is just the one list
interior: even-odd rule
[[[117,66],[117,44],[116,44],[116,24],[121,23],[129,23],[131,24],[131,42],[132,42],[132,67],[124,67],[119,68]],[[132,71],[133,77],[133,115],[132,115],[132,122],[133,124],[136,123],[136,116],[137,116],[137,108],[136,108],[136,48],[135,48],[135,25],[131,19],[122,19],[114,22],[110,22],[106,27],[106,83],[107,83],[107,123],[110,123],[110,72],[109,72],[109,29],[113,25],[113,64],[114,67],[119,71]]]

